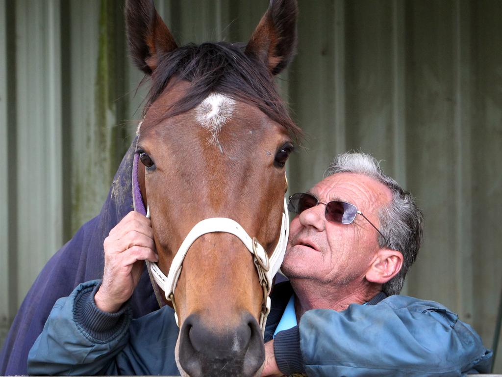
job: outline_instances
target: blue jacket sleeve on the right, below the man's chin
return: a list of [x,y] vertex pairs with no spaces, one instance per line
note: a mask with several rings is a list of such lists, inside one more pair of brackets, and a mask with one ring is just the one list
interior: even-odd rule
[[343,312],[310,310],[286,334],[290,343],[295,331],[309,376],[464,375],[487,372],[492,356],[456,314],[404,296],[374,306],[351,305]]

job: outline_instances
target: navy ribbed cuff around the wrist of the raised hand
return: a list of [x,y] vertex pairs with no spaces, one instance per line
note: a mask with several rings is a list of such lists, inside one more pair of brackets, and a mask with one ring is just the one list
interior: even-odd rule
[[94,302],[94,295],[100,286],[101,283],[85,288],[77,294],[73,316],[76,324],[87,337],[99,342],[107,342],[120,335],[129,324],[131,309],[126,303],[116,313],[106,313],[100,310]]

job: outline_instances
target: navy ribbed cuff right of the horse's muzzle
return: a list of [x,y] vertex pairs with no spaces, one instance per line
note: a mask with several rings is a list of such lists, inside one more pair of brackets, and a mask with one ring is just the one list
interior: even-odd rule
[[274,338],[274,354],[277,366],[283,374],[306,373],[300,350],[300,330],[298,326],[280,331]]

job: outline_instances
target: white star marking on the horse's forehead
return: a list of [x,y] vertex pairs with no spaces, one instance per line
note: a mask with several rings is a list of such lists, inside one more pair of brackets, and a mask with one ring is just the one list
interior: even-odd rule
[[195,108],[197,122],[211,132],[212,144],[219,145],[218,132],[232,117],[234,110],[235,101],[220,93],[211,93]]

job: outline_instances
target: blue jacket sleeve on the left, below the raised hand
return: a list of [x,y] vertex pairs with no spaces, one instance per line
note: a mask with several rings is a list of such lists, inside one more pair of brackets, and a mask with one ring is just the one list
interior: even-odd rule
[[118,374],[115,357],[128,343],[131,310],[125,305],[114,314],[100,311],[94,304],[99,284],[80,284],[57,300],[29,352],[29,374]]

